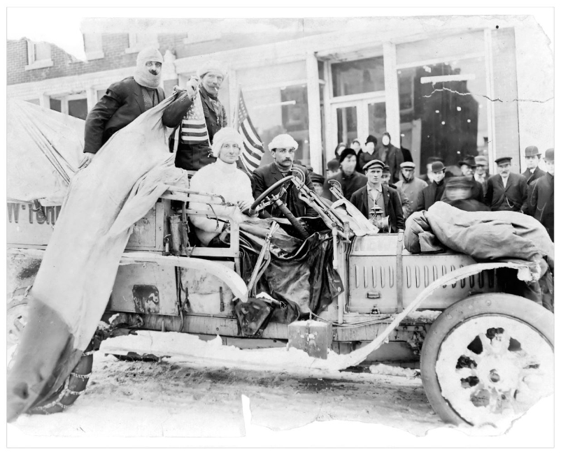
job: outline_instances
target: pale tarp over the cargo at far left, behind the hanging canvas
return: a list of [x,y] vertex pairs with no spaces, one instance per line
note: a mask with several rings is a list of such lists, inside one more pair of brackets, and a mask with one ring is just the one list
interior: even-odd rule
[[6,122],[7,201],[62,205],[83,157],[84,120],[10,100]]

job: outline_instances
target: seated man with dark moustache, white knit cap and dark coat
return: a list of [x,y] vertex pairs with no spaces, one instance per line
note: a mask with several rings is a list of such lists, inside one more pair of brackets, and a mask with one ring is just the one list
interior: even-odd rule
[[[313,184],[310,178],[310,172],[304,166],[294,164],[294,152],[298,149],[298,142],[289,134],[280,134],[269,143],[269,151],[273,156],[273,162],[267,166],[261,166],[253,170],[253,198],[257,199],[266,189],[273,186],[284,177],[293,175],[292,170],[298,169],[304,174],[304,184],[313,191]],[[273,192],[278,194],[280,188]],[[283,202],[288,210],[295,217],[302,216],[318,216],[318,214],[309,207],[304,200],[298,197],[298,189],[291,184],[288,191],[283,196]],[[276,205],[269,205],[265,212],[260,213],[260,217],[282,217]]]

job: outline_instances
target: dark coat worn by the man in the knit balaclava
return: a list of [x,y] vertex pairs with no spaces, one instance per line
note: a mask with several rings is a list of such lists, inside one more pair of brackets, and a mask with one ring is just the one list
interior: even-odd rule
[[[164,90],[157,88],[156,104],[164,101]],[[115,82],[87,114],[84,152],[97,153],[114,133],[145,112],[141,85],[129,77]]]

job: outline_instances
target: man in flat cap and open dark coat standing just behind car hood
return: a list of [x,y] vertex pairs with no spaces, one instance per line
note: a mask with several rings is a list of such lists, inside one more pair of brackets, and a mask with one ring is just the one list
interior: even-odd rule
[[350,196],[350,203],[355,205],[367,219],[371,218],[377,205],[382,209],[382,217],[390,218],[390,232],[395,233],[405,228],[402,203],[395,189],[382,184],[383,168],[384,163],[378,159],[366,164],[364,171],[367,173],[368,182]]

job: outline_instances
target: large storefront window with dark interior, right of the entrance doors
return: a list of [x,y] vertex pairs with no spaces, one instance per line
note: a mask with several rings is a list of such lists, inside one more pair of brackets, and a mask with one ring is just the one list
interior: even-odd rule
[[[443,161],[450,173],[459,175],[458,161],[467,155],[488,154],[485,57],[476,54],[481,50],[480,35],[462,35],[455,41],[469,46],[473,57],[443,57],[444,61],[436,63],[435,57],[452,50],[441,46],[444,51],[436,52],[439,47],[427,44],[429,41],[397,48],[401,143],[411,151],[420,174],[425,173],[432,157]],[[404,68],[399,56],[412,59],[415,48],[420,57],[432,58],[431,64]]]

